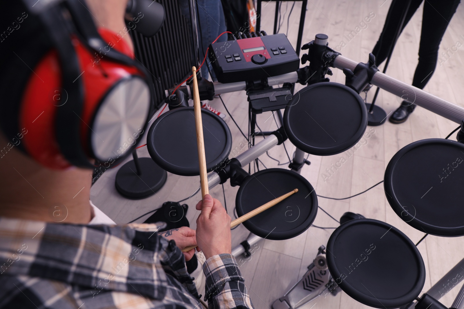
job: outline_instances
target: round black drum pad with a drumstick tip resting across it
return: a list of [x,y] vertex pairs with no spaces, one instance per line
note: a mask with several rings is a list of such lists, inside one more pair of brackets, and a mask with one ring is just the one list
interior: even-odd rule
[[316,218],[317,196],[311,184],[291,170],[267,169],[246,177],[235,200],[237,214],[244,215],[293,189],[298,192],[243,225],[271,240],[289,239],[306,231]]

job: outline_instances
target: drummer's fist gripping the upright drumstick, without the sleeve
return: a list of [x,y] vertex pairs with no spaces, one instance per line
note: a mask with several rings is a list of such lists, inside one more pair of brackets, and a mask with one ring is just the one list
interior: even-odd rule
[[206,194],[196,208],[201,210],[197,219],[197,243],[206,259],[216,254],[231,253],[231,217],[221,202]]

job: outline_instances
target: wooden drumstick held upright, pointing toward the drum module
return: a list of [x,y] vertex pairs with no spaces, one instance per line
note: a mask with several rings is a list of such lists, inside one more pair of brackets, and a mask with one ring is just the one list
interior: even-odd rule
[[197,130],[197,145],[198,145],[198,161],[200,163],[200,184],[201,198],[205,194],[209,194],[208,176],[206,174],[206,156],[205,156],[205,140],[203,139],[203,122],[201,121],[201,102],[200,93],[198,91],[197,68],[192,67],[193,72],[193,109],[195,111],[195,126]]

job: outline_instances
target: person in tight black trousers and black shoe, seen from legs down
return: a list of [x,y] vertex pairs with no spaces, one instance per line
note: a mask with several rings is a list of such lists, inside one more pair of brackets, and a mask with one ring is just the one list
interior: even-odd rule
[[[411,1],[401,31],[406,27],[406,24],[417,11],[422,1],[423,0]],[[404,0],[393,0],[390,5],[387,20],[383,26],[380,38],[377,44],[375,44],[374,50],[372,50],[375,56],[375,65],[377,66],[387,59],[388,52],[390,48],[392,48],[394,36],[407,2],[408,1]],[[424,2],[419,44],[419,63],[414,72],[412,86],[423,89],[432,77],[435,67],[437,66],[438,48],[441,39],[445,34],[446,27],[450,24],[451,18],[456,12],[459,2],[460,0],[426,0]],[[414,104],[414,102],[403,101],[400,107],[390,116],[390,122],[395,124],[405,122],[412,111],[414,111],[415,107],[416,104]]]

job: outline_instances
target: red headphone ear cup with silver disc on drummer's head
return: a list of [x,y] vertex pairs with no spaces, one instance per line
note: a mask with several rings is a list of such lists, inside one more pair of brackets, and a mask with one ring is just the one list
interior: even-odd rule
[[[114,48],[133,57],[122,37],[107,29],[100,32],[109,42],[104,49]],[[52,50],[34,68],[36,74],[29,77],[19,112],[20,127],[28,128],[28,134],[24,134],[26,152],[53,169],[71,166],[61,151],[64,147],[68,151],[80,147],[89,160],[94,158],[100,162],[112,163],[126,157],[146,129],[151,105],[149,85],[139,69],[105,58],[105,50],[98,54],[92,51],[92,55],[77,38],[73,38],[73,45],[82,70],[77,76],[82,78],[84,86],[82,109],[69,105],[68,93],[61,88],[58,53]],[[78,131],[80,145],[58,143],[59,108],[71,108],[74,113],[68,114],[79,117],[80,125],[71,130]]]

